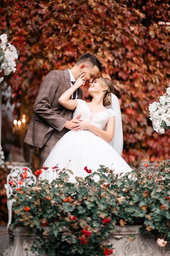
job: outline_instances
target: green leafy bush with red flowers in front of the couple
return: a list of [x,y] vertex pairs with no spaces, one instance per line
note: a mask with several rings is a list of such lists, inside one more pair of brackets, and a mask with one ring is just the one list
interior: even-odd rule
[[170,161],[159,171],[133,169],[124,176],[101,166],[85,179],[77,177],[77,183],[69,183],[68,175],[63,169],[52,183],[38,180],[15,195],[13,226],[35,230],[38,241],[32,250],[101,256],[119,224],[141,224],[142,234],[166,235],[170,241]]

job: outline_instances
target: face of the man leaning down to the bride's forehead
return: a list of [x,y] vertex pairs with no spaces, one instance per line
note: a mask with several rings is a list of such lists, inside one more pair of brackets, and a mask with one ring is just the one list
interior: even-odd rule
[[97,66],[87,66],[87,64],[82,64],[80,67],[80,73],[78,74],[78,77],[81,76],[83,73],[86,73],[84,75],[86,79],[86,83],[92,83],[92,81],[95,79],[96,76],[98,76],[99,69]]

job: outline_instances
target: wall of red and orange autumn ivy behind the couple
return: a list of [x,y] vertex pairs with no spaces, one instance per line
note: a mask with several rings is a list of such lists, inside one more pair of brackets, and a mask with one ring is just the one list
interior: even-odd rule
[[170,158],[170,131],[153,131],[148,112],[170,82],[170,26],[158,24],[170,21],[168,2],[4,0],[0,29],[19,53],[10,79],[15,101],[23,94],[32,113],[46,74],[70,68],[91,52],[120,99],[125,159]]

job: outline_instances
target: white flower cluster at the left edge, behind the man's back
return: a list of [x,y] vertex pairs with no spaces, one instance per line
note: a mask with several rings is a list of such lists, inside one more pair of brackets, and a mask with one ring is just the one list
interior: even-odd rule
[[[17,49],[10,43],[8,43],[7,35],[0,35],[0,72],[4,71],[4,75],[8,76],[11,72],[15,72],[16,63],[14,59],[18,58]],[[0,82],[3,81],[3,77],[0,78]]]

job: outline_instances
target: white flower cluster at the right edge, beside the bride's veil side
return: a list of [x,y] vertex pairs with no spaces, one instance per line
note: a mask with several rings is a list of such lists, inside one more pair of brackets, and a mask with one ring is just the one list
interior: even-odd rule
[[170,84],[159,102],[149,105],[150,120],[153,122],[153,129],[163,134],[165,129],[170,129]]

